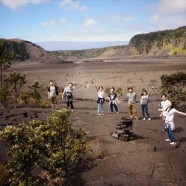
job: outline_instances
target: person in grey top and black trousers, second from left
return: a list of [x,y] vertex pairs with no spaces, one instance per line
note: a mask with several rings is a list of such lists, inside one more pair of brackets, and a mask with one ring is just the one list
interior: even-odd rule
[[65,102],[67,104],[67,109],[71,107],[71,111],[74,111],[74,105],[73,105],[73,90],[75,89],[75,86],[73,83],[69,83],[68,87],[65,87],[63,94],[62,94],[62,100],[65,99]]

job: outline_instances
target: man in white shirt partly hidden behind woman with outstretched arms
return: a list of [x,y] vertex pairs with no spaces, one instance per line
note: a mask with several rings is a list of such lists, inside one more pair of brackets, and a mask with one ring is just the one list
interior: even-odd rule
[[[162,118],[163,121],[165,121],[166,113],[167,113],[166,110],[171,105],[171,102],[168,100],[166,94],[162,94],[161,99],[162,99],[162,101],[160,103],[160,107],[161,107],[160,117]],[[166,123],[164,122],[163,131],[166,131],[166,130],[167,130],[167,127],[166,127]]]

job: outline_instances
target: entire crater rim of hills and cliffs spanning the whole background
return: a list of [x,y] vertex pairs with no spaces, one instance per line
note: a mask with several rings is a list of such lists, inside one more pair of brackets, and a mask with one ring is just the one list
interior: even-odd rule
[[5,40],[6,50],[13,52],[18,61],[33,60],[45,63],[77,62],[102,59],[124,59],[131,57],[186,56],[186,26],[139,34],[132,37],[129,45],[111,46],[87,50],[66,50],[49,52],[29,41]]

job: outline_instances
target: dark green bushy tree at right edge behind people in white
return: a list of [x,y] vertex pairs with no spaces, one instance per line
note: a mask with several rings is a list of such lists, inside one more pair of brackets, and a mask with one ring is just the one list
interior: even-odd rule
[[174,101],[176,105],[180,102],[186,101],[186,74],[178,72],[170,75],[162,75],[162,93],[166,93],[170,96],[171,101]]

